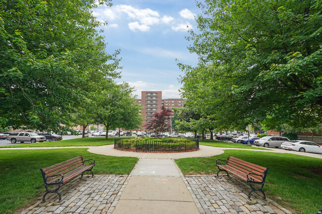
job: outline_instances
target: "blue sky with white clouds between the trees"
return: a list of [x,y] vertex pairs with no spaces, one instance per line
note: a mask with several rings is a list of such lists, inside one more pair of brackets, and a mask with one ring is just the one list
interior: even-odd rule
[[[163,98],[180,97],[178,78],[184,73],[179,62],[196,65],[185,40],[196,30],[198,12],[194,0],[112,0],[113,6],[99,5],[93,14],[104,26],[107,52],[120,49],[122,78],[141,97],[142,90],[161,90]],[[188,28],[187,28],[188,26]]]

